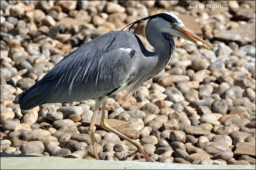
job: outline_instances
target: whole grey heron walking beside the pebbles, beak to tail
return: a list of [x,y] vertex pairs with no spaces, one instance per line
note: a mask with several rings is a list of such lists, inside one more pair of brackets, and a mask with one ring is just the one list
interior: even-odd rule
[[111,128],[106,122],[108,96],[126,88],[127,99],[143,82],[164,69],[174,55],[175,43],[172,36],[192,41],[208,50],[212,46],[188,30],[176,15],[168,12],[142,18],[128,26],[131,28],[146,20],[146,38],[155,52],[146,50],[140,38],[136,33],[130,32],[130,29],[98,36],[68,54],[34,86],[22,92],[16,98],[20,108],[27,110],[46,103],[66,103],[95,98],[94,114],[88,130],[95,158],[99,160],[94,141],[94,124],[102,105],[102,128],[136,146],[138,150],[130,156],[140,152],[147,161],[150,161],[141,144]]

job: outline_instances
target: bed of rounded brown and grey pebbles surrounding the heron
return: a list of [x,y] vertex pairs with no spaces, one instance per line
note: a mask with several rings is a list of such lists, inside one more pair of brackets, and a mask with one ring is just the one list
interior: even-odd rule
[[[255,1],[221,2],[229,8],[162,0],[1,1],[1,152],[95,159],[88,136],[94,100],[20,110],[15,98],[92,38],[168,11],[208,39],[213,52],[175,38],[171,62],[126,108],[124,92],[108,98],[107,121],[156,162],[255,164]],[[153,50],[145,24],[137,33]],[[126,158],[136,148],[102,130],[99,120],[96,128],[101,160],[143,161],[141,154]]]

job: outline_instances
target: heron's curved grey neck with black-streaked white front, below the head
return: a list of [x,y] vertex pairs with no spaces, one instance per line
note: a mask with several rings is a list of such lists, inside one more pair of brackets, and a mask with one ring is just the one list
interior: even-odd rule
[[174,55],[174,39],[170,34],[157,31],[157,29],[154,28],[154,25],[148,24],[146,26],[146,38],[155,48],[154,56],[158,58],[158,64],[162,65],[164,68]]

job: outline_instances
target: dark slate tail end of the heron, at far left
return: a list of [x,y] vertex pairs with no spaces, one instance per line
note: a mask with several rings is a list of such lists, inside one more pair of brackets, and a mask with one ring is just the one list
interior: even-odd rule
[[20,108],[22,110],[28,110],[44,104],[44,90],[46,90],[49,85],[49,82],[38,81],[36,84],[19,94],[16,97],[16,100],[19,102]]

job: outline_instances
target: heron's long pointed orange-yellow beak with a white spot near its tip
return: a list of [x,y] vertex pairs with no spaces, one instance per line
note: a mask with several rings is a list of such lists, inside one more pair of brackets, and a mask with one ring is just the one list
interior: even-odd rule
[[198,46],[205,48],[207,50],[212,51],[212,46],[204,41],[202,38],[200,38],[199,36],[197,36],[196,34],[194,34],[191,30],[189,30],[186,27],[178,27],[177,29],[179,32],[181,32],[182,38],[185,38],[186,40],[190,40],[192,42],[194,42],[195,44],[197,44]]

